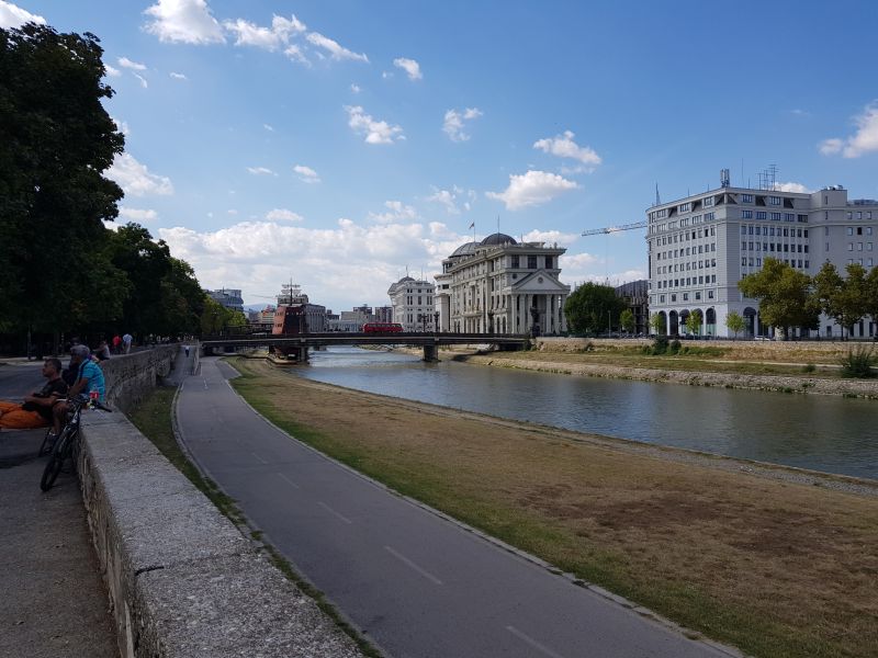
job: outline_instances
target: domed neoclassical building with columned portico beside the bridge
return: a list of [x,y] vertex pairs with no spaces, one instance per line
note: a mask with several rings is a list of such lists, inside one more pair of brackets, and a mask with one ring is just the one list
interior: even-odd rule
[[559,281],[563,247],[496,232],[442,261],[436,298],[442,331],[556,334],[566,331],[570,286]]

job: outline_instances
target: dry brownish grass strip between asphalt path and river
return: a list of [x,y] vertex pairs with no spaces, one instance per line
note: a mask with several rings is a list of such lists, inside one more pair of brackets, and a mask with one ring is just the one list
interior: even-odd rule
[[874,497],[233,363],[296,438],[688,628],[755,656],[874,656]]

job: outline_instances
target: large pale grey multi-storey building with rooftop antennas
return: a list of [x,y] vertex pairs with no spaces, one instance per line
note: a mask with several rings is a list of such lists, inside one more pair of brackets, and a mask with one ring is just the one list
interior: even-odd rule
[[[765,258],[809,276],[826,261],[842,275],[849,263],[875,266],[878,201],[848,201],[841,185],[793,193],[732,188],[728,175],[722,183],[646,211],[650,313],[662,318],[663,333],[686,333],[686,318],[697,309],[701,334],[731,336],[725,320],[732,311],[744,318],[746,336],[768,334],[758,302],[738,288]],[[820,334],[841,337],[842,328],[822,316]],[[875,334],[875,318],[854,331],[855,337]]]

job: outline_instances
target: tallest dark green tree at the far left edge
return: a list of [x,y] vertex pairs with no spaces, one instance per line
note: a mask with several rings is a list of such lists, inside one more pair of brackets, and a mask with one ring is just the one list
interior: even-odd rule
[[103,172],[124,138],[102,105],[103,50],[86,33],[0,30],[0,330],[67,330],[117,317],[124,275],[103,219],[122,190]]

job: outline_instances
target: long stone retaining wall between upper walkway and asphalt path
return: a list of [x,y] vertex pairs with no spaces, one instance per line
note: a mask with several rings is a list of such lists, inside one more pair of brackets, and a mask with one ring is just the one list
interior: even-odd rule
[[[111,402],[170,367],[153,352],[102,364]],[[123,657],[361,655],[122,412],[82,415],[78,470]]]

